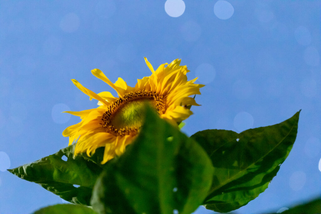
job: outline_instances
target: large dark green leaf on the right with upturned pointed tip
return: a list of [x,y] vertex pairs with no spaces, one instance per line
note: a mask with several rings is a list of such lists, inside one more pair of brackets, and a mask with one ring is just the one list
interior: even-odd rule
[[268,187],[296,138],[299,112],[271,126],[242,133],[204,130],[191,136],[214,166],[206,209],[229,212],[246,205]]

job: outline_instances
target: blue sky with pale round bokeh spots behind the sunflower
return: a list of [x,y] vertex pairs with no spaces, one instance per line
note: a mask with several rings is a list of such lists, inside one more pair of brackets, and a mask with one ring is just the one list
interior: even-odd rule
[[[235,213],[282,212],[321,192],[321,1],[1,1],[0,213],[65,203],[7,172],[68,145],[96,107],[70,79],[98,93],[99,68],[130,86],[181,58],[206,86],[182,129],[241,132],[302,109],[296,142],[269,188]],[[195,213],[213,213],[200,207]]]

